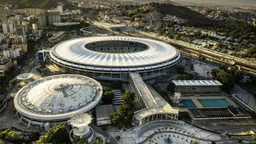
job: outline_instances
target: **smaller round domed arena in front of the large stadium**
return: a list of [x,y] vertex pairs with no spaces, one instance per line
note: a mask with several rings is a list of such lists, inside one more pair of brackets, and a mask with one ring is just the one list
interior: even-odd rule
[[29,124],[65,122],[92,110],[102,98],[102,86],[82,75],[61,74],[30,82],[14,97],[14,106]]

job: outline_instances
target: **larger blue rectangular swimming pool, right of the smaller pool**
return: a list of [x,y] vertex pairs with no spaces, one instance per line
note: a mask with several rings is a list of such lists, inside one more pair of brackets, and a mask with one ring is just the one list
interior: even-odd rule
[[226,102],[226,99],[198,99],[198,102],[202,104],[203,107],[222,107],[226,108],[230,106],[229,102]]

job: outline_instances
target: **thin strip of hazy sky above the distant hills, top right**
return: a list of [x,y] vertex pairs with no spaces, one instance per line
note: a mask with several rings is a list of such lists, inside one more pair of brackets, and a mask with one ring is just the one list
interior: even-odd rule
[[228,6],[254,6],[256,7],[256,0],[172,0],[173,2],[188,2],[196,4],[210,4],[210,5],[228,5]]

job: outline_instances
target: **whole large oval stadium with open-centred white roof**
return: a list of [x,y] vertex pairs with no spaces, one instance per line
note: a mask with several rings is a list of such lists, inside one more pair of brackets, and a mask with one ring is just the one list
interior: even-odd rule
[[50,59],[71,73],[102,80],[128,81],[130,72],[143,79],[166,74],[181,54],[164,42],[134,37],[90,37],[60,42]]

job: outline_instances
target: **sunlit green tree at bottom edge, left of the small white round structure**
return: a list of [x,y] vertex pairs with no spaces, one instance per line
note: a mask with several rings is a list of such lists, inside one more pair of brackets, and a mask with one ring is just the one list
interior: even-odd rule
[[41,143],[66,143],[70,142],[69,131],[66,129],[66,125],[60,124],[53,126],[50,130],[47,131],[46,134],[43,134],[36,144]]

